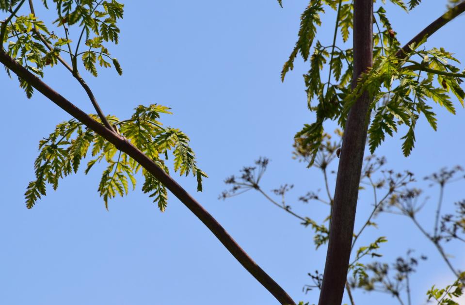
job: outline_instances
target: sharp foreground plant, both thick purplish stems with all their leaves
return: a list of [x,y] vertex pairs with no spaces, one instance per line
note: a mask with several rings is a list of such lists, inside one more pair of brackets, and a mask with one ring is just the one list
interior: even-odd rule
[[[284,4],[281,0],[278,2],[281,6]],[[421,1],[390,2],[408,11]],[[448,3],[448,12],[403,48],[387,17],[384,0],[310,0],[301,17],[297,43],[283,67],[282,79],[292,70],[298,54],[309,61],[310,70],[304,76],[307,104],[316,112],[317,119],[296,135],[308,152],[309,165],[316,162],[323,145],[324,122],[337,121],[344,129],[336,192],[334,202],[330,202],[330,219],[337,219],[338,223],[329,226],[329,233],[316,223],[307,224],[321,231],[320,242],[325,242],[326,234],[329,244],[321,284],[321,305],[340,304],[342,299],[347,273],[340,271],[347,271],[350,266],[357,179],[362,171],[367,136],[373,152],[384,141],[385,134],[393,135],[401,129],[399,126],[405,126],[402,151],[407,156],[415,144],[415,127],[420,116],[425,116],[433,129],[437,128],[431,101],[451,113],[455,113],[455,106],[450,96],[457,96],[462,106],[464,104],[465,93],[460,85],[465,71],[443,48],[423,48],[430,35],[465,11],[465,1],[449,0]],[[202,177],[206,177],[196,166],[189,138],[178,129],[162,127],[159,122],[160,113],[167,113],[168,109],[159,105],[140,106],[127,120],[106,116],[80,75],[83,68],[97,76],[97,65],[114,66],[117,73],[122,73],[121,65],[112,57],[107,45],[119,41],[117,22],[123,17],[123,4],[116,0],[42,0],[45,8],[51,4],[56,11],[53,30],[36,16],[32,0],[0,0],[0,62],[6,72],[17,76],[28,97],[37,90],[74,117],[59,124],[40,142],[39,157],[34,164],[36,180],[29,184],[26,192],[28,207],[46,193],[46,183],[56,189],[58,180],[77,172],[82,159],[89,154],[92,158],[86,173],[96,162],[106,162],[98,186],[106,206],[108,199],[134,188],[135,175],[140,170],[144,177],[143,191],[154,197],[160,210],[166,207],[167,190],[171,191],[281,304],[295,304],[224,228],[167,175],[164,160],[171,150],[175,171],[195,176],[198,190],[201,190]],[[324,44],[316,36],[321,25],[320,15],[329,9],[337,11],[337,20],[332,43]],[[351,30],[353,47],[337,46],[339,31],[345,43],[351,38]],[[68,62],[65,58],[69,58]],[[46,67],[58,64],[63,65],[85,90],[95,115],[82,112],[40,79]],[[321,79],[320,72],[325,64],[329,65],[327,81]],[[314,100],[317,100],[316,105]],[[373,117],[371,122],[370,116]],[[360,255],[365,251],[375,253],[373,251],[382,242],[373,242]]]

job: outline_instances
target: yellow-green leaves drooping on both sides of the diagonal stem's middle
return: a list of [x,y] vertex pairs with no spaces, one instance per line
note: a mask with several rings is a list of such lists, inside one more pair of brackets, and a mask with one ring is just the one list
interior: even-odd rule
[[[195,154],[189,146],[189,138],[175,128],[164,128],[159,121],[160,113],[171,113],[169,108],[157,104],[148,107],[138,106],[130,119],[120,121],[114,116],[107,119],[119,129],[122,136],[131,144],[149,156],[166,173],[168,167],[164,160],[168,159],[168,150],[173,151],[174,170],[180,175],[192,173],[197,177],[197,190],[202,191],[202,178],[207,175],[196,164]],[[96,115],[94,119],[98,120]],[[39,142],[39,156],[34,162],[36,179],[29,183],[25,193],[26,206],[31,209],[35,202],[46,194],[46,184],[56,190],[60,178],[77,173],[81,161],[88,151],[92,158],[87,162],[85,174],[96,163],[104,161],[106,167],[98,185],[98,192],[108,209],[108,200],[128,193],[129,187],[136,187],[136,174],[141,169],[127,154],[119,151],[94,131],[84,127],[82,123],[70,120],[60,123],[55,130]],[[163,158],[161,158],[163,157]],[[167,190],[150,173],[143,170],[144,184],[142,190],[154,198],[161,211],[166,209]]]

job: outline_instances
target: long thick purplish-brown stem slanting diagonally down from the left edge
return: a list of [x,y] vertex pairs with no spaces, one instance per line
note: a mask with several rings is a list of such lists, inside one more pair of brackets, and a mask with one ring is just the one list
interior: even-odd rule
[[226,230],[205,210],[189,193],[186,192],[177,182],[168,176],[160,167],[150,158],[144,155],[139,149],[134,147],[124,137],[116,134],[111,129],[92,119],[85,112],[80,110],[74,104],[69,102],[56,91],[48,87],[46,83],[34,76],[26,68],[17,64],[13,58],[8,56],[3,50],[0,50],[0,62],[13,71],[17,76],[26,80],[37,91],[48,97],[52,102],[57,104],[64,111],[75,117],[88,128],[94,130],[97,134],[105,138],[116,148],[128,154],[131,158],[141,164],[149,173],[156,177],[173,193],[188,209],[197,216],[198,219],[218,238],[224,247],[241,263],[241,265],[251,273],[260,284],[262,284],[273,296],[285,305],[295,305],[294,301],[267,273],[265,273],[257,263],[250,258],[247,253],[232,239]]

